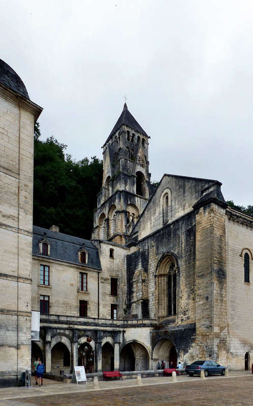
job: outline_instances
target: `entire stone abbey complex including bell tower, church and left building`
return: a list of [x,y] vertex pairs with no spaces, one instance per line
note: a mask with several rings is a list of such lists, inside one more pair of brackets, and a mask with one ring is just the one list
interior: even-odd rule
[[54,375],[161,360],[249,368],[253,217],[228,207],[216,180],[165,174],[152,185],[150,138],[125,104],[103,146],[91,240],[33,227],[42,109],[4,61],[0,91],[1,383],[15,384],[36,356]]

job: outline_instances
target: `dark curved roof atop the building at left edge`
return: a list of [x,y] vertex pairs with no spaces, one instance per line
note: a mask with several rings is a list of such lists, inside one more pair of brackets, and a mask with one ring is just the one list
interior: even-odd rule
[[26,87],[20,77],[5,61],[0,59],[0,83],[9,89],[22,94],[25,98],[29,98]]

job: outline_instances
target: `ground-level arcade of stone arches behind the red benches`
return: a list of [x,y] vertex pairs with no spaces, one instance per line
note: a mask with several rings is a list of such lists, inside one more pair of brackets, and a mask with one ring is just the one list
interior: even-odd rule
[[[73,350],[75,350],[75,353]],[[55,336],[49,348],[48,343],[31,343],[31,365],[40,357],[46,373],[52,375],[71,374],[74,365],[84,365],[86,373],[97,371],[134,371],[157,369],[157,362],[164,361],[165,368],[173,363],[176,367],[183,354],[177,354],[172,341],[167,338],[158,341],[153,350],[143,343],[131,341],[119,346],[112,337],[102,340],[101,351],[90,336],[82,337],[78,343],[71,343],[66,336]]]

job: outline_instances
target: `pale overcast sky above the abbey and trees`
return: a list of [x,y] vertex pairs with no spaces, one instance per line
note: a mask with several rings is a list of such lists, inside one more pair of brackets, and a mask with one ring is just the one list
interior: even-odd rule
[[151,137],[151,180],[223,183],[253,205],[252,0],[1,1],[1,55],[80,160],[96,155],[123,109]]

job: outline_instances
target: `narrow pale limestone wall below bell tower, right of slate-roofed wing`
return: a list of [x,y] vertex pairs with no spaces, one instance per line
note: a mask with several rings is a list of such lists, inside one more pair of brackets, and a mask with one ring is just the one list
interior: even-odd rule
[[[129,248],[109,242],[93,241],[100,250],[100,317],[111,318],[111,304],[117,304],[117,318],[124,316],[125,299],[127,293],[127,278],[125,258]],[[114,250],[114,258],[110,258],[110,248]],[[111,278],[118,278],[118,295],[111,296]]]

